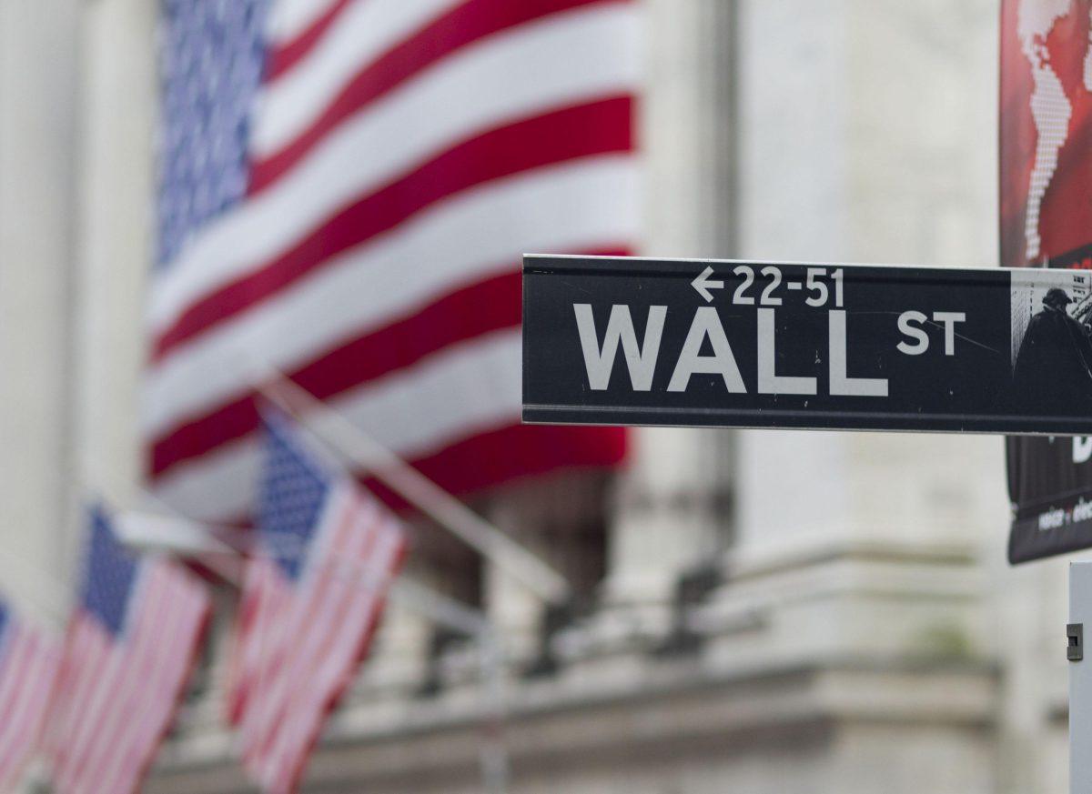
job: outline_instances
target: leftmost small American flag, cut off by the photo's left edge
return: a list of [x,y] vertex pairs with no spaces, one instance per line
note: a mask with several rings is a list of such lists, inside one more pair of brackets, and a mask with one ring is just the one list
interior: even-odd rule
[[60,658],[56,640],[0,601],[0,792],[38,750]]

